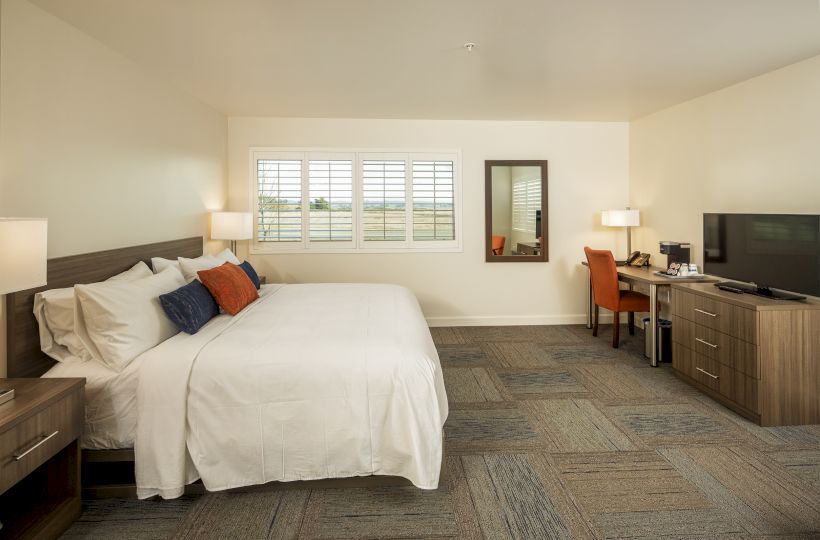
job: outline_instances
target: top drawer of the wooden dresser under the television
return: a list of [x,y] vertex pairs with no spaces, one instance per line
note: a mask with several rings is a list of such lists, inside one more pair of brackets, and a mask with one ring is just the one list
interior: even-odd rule
[[672,314],[749,343],[758,342],[757,311],[751,309],[675,288]]

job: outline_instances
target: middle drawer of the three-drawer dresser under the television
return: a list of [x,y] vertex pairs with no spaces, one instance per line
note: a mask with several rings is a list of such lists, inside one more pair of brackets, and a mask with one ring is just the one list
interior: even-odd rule
[[757,345],[672,316],[672,341],[749,377],[760,378]]

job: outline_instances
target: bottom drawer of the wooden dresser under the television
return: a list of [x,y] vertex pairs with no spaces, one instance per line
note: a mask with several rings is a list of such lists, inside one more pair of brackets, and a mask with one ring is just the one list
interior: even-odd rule
[[754,413],[760,413],[759,381],[725,364],[673,343],[674,368]]

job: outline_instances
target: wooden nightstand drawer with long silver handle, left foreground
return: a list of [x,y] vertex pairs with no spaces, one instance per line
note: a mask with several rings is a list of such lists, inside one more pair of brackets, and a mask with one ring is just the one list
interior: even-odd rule
[[80,436],[83,392],[71,392],[0,433],[0,493]]

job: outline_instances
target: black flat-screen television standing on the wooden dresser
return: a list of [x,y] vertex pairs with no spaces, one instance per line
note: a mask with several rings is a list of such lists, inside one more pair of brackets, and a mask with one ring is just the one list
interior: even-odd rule
[[703,271],[736,292],[820,296],[820,215],[703,214]]

